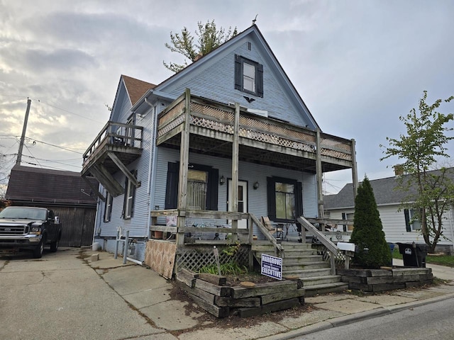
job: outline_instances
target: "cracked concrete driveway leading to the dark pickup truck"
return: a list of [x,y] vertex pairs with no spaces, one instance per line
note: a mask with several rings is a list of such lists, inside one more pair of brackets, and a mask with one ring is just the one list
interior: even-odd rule
[[[132,282],[137,266],[124,268],[121,276],[101,269],[104,280],[79,251],[59,249],[42,259],[27,253],[0,257],[0,339],[177,339],[109,286],[109,280]],[[129,289],[123,293],[137,298]]]

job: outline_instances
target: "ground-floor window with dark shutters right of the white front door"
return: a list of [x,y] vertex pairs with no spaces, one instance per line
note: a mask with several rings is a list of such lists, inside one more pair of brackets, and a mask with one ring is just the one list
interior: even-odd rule
[[294,222],[302,215],[302,187],[298,181],[270,177],[267,181],[267,192],[270,220]]

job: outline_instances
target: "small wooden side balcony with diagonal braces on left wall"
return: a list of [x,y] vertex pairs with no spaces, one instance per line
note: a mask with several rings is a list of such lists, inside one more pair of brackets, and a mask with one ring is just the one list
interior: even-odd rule
[[113,175],[122,171],[139,186],[127,166],[142,154],[143,127],[108,122],[84,153],[82,177],[94,176],[112,196],[123,193]]

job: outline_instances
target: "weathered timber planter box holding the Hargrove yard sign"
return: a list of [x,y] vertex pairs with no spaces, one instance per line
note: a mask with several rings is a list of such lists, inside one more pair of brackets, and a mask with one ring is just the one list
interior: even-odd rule
[[179,271],[176,279],[197,305],[219,318],[231,314],[252,317],[304,304],[301,280],[258,283],[251,288],[230,287],[223,276],[186,269]]

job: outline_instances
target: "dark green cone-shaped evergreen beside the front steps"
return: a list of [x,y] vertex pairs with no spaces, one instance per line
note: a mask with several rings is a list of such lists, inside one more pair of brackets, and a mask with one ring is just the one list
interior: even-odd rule
[[382,220],[367,176],[358,187],[353,224],[350,242],[358,246],[353,263],[372,269],[391,265],[391,251],[384,239]]

